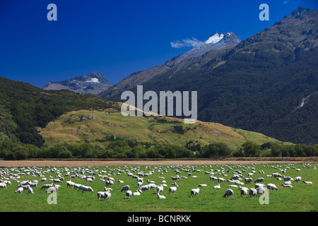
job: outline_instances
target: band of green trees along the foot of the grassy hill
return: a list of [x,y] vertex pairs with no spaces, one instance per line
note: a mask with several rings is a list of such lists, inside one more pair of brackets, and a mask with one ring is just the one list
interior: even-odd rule
[[52,148],[13,141],[0,142],[0,158],[4,160],[25,160],[27,158],[220,158],[220,157],[310,157],[318,156],[318,145],[285,145],[264,143],[257,145],[251,141],[233,150],[225,143],[211,143],[201,146],[156,145],[136,141],[112,141],[106,148],[90,143],[55,145]]

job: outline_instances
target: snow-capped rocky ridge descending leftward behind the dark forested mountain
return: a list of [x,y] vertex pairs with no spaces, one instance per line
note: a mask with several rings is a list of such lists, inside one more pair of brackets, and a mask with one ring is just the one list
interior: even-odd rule
[[[228,32],[226,34],[215,32],[201,46],[195,47],[184,54],[180,54],[179,56],[170,59],[170,61],[167,61],[165,64],[132,73],[116,85],[113,85],[111,88],[100,93],[99,96],[104,99],[112,100],[112,96],[120,95],[125,90],[134,88],[136,85],[151,81],[160,74],[172,70],[176,72],[184,67],[194,64],[204,57],[205,54],[208,54],[208,52],[222,52],[228,48],[234,47],[239,42],[240,39],[233,32]],[[116,97],[114,100],[115,99]]]

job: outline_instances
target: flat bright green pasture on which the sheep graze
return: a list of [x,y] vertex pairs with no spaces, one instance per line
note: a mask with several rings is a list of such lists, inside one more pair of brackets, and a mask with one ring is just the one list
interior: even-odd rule
[[[157,166],[104,166],[104,167],[2,167],[0,168],[1,180],[11,182],[6,189],[0,188],[1,212],[311,212],[318,210],[318,177],[317,164],[309,163],[278,163],[278,164],[245,164],[245,165],[157,165]],[[264,171],[264,174],[259,173]],[[285,172],[283,172],[284,170]],[[299,171],[300,170],[300,171]],[[229,180],[233,175],[241,174],[242,180],[248,177],[248,173],[254,171],[252,183],[227,187],[234,182],[218,182],[211,180],[211,176],[222,177]],[[283,177],[302,177],[300,182],[291,182],[293,187],[283,187],[284,180],[269,177],[278,172]],[[68,176],[69,174],[69,176]],[[70,178],[72,175],[76,177]],[[140,196],[131,196],[125,199],[125,191],[121,189],[129,185],[132,192],[138,189],[137,179],[143,178],[143,185],[147,180],[155,182],[156,185],[167,184],[161,195],[165,199],[158,199],[155,189],[143,191]],[[179,176],[177,191],[169,194],[172,186],[172,177]],[[93,182],[86,182],[85,177],[95,177]],[[112,177],[113,185],[106,185],[102,176]],[[58,184],[57,204],[49,204],[46,189],[40,189],[43,184],[52,184],[52,179],[63,177],[64,181]],[[164,179],[161,179],[163,177]],[[182,178],[184,177],[184,178]],[[268,204],[260,203],[260,196],[241,197],[239,186],[248,189],[255,187],[255,180],[264,178],[264,184],[276,184],[278,191],[269,191]],[[40,179],[46,178],[46,182]],[[51,180],[50,180],[51,179]],[[66,186],[66,181],[75,182],[85,186],[91,186],[93,193],[79,191]],[[23,181],[37,180],[38,186],[33,187],[34,194],[15,194],[18,185]],[[105,179],[107,180],[107,179]],[[124,183],[119,183],[119,180]],[[162,182],[165,180],[165,183]],[[302,181],[312,182],[305,184]],[[192,189],[201,186],[199,196],[190,197]],[[220,189],[213,186],[220,184]],[[98,191],[104,191],[104,187],[111,188],[112,194],[109,201],[104,198],[98,200]],[[234,191],[233,196],[223,198],[227,189]],[[264,197],[264,196],[262,196]],[[264,199],[263,199],[264,200]]]

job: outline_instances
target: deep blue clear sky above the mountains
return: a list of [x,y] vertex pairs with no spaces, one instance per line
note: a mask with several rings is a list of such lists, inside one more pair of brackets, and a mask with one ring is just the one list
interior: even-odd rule
[[[57,21],[47,20],[50,3]],[[259,20],[263,3],[269,21]],[[245,40],[298,6],[318,8],[317,0],[0,0],[0,76],[42,88],[100,71],[118,83],[192,48],[170,42],[216,31]]]

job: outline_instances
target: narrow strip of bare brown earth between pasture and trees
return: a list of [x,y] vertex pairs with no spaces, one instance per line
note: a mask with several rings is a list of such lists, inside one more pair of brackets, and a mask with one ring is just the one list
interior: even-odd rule
[[249,165],[291,162],[317,162],[314,158],[252,158],[250,160],[118,160],[118,161],[62,161],[62,160],[0,160],[0,167],[83,167],[83,166],[139,166],[139,165]]

